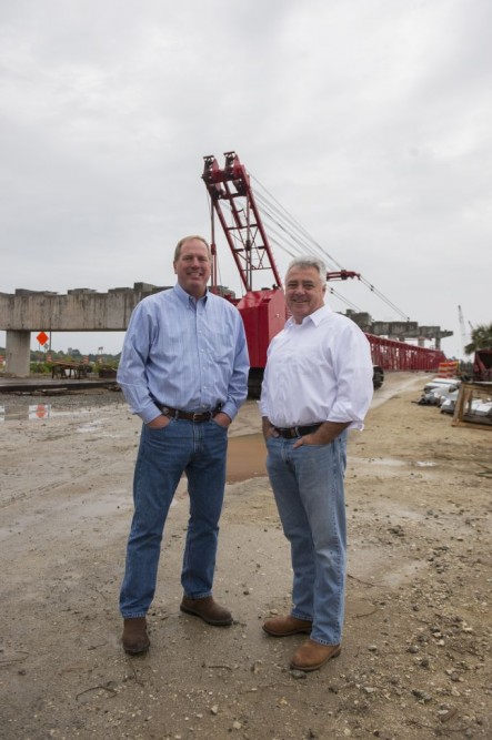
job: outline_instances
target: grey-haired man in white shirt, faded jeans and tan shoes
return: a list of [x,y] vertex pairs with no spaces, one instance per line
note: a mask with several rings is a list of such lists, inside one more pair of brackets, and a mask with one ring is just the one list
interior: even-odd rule
[[324,305],[327,268],[293,260],[285,277],[292,314],[270,344],[260,410],[267,468],[291,545],[291,614],[267,619],[273,637],[305,632],[291,667],[317,670],[341,651],[347,533],[347,435],[362,429],[372,359],[361,330]]

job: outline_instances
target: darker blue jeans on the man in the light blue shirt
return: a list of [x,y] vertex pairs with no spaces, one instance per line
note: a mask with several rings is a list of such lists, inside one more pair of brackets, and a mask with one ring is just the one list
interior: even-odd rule
[[190,517],[181,584],[185,596],[211,596],[219,518],[225,486],[228,430],[171,419],[162,429],[143,425],[133,478],[134,514],[127,547],[120,610],[144,617],[155,592],[161,541],[169,507],[184,472]]

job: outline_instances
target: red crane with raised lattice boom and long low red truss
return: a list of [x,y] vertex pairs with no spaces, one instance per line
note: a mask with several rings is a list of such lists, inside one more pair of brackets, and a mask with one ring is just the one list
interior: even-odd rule
[[[282,280],[273,259],[263,221],[251,187],[250,176],[235,152],[225,152],[225,164],[219,166],[213,155],[204,156],[202,180],[211,200],[211,290],[233,303],[242,315],[250,355],[249,391],[259,397],[267,349],[271,339],[283,328],[289,312]],[[225,235],[238,268],[244,295],[235,298],[218,284],[215,216]],[[228,217],[227,217],[228,216]],[[269,272],[273,284],[253,290],[253,273]],[[328,281],[360,278],[359,273],[340,270],[327,273]],[[442,352],[425,349],[367,334],[374,362],[374,387],[384,379],[384,369],[435,369],[445,359]]]

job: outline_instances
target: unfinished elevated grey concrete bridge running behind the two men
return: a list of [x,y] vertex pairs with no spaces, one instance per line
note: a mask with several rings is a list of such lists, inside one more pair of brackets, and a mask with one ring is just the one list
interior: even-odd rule
[[[0,293],[0,330],[7,334],[6,372],[18,377],[29,375],[31,332],[125,332],[135,305],[169,287],[134,283],[133,287],[114,287],[108,293],[86,287],[67,294],[23,288],[13,294]],[[436,349],[441,338],[453,334],[415,322],[374,322],[367,313],[348,311],[347,316],[368,334],[418,339],[421,346],[425,339],[433,339]]]

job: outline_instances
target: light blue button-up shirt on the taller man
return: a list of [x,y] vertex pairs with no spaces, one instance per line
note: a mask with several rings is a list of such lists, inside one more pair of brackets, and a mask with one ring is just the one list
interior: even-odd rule
[[239,311],[213,293],[195,301],[177,284],[134,308],[118,368],[132,412],[148,424],[163,406],[234,418],[248,395],[249,358]]

